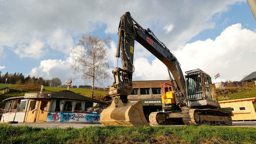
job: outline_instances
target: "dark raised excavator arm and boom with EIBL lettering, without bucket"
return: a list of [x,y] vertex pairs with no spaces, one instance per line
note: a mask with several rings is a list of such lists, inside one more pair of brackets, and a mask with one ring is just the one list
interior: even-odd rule
[[[115,70],[112,71],[115,81],[113,86],[110,87],[109,95],[119,96],[120,99],[126,103],[127,95],[132,93],[132,72],[134,72],[133,55],[135,40],[167,66],[168,71],[171,72],[174,80],[176,80],[176,97],[179,97],[177,100],[180,100],[180,102],[177,103],[185,106],[187,102],[185,97],[185,80],[178,60],[169,51],[169,49],[167,49],[167,47],[165,47],[165,45],[154,36],[150,29],[143,29],[139,23],[132,19],[129,12],[126,12],[121,17],[118,28],[116,57],[120,57],[121,52],[123,68],[115,68]],[[180,97],[182,97],[182,99],[180,99]]]

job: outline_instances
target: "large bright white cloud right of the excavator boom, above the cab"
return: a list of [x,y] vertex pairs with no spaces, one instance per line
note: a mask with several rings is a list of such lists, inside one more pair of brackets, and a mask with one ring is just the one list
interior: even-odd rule
[[[196,41],[175,51],[184,71],[200,68],[214,77],[218,72],[225,80],[240,81],[254,68],[256,33],[240,23],[223,30],[215,40]],[[214,81],[215,82],[215,81]]]

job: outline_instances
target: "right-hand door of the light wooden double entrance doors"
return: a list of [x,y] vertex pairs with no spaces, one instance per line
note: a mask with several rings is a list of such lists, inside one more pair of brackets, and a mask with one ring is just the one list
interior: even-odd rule
[[36,122],[46,122],[50,100],[40,100]]

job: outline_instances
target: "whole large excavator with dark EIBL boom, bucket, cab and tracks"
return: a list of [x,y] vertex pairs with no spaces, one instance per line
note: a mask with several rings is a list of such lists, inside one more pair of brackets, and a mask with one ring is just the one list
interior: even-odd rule
[[[232,125],[231,108],[220,108],[215,86],[208,74],[200,69],[190,70],[183,76],[176,57],[158,40],[150,29],[143,29],[129,12],[121,16],[118,28],[117,59],[122,59],[122,68],[112,71],[115,81],[109,88],[113,98],[110,106],[100,114],[103,125],[139,126],[150,125],[145,119],[142,102],[130,102],[132,93],[133,55],[135,40],[167,66],[170,83],[175,87],[163,93],[163,112],[152,112],[152,125]],[[174,80],[171,78],[173,76]]]

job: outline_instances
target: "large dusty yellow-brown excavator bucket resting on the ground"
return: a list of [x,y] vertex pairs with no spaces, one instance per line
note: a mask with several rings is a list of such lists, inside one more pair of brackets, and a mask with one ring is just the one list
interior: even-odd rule
[[123,103],[119,97],[115,97],[110,106],[100,113],[102,125],[124,125],[124,126],[150,126],[146,120],[142,102]]

